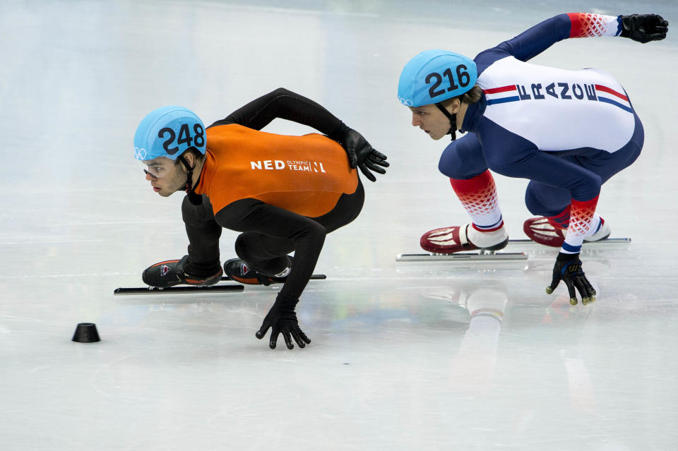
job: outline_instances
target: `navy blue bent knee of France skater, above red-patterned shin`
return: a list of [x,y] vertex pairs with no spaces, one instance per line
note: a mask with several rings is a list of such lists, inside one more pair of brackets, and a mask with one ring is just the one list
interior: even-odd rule
[[482,145],[475,133],[466,133],[448,145],[440,156],[438,169],[451,179],[461,180],[472,179],[487,171]]

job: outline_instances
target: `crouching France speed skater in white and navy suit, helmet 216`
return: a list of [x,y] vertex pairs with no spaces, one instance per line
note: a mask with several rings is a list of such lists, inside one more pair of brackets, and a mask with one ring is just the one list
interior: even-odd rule
[[[504,227],[489,170],[529,179],[523,224],[537,243],[560,248],[547,293],[564,281],[570,303],[595,289],[579,258],[583,241],[609,236],[595,208],[600,186],[633,163],[643,148],[643,126],[629,95],[609,73],[569,71],[526,61],[569,37],[620,36],[646,43],[666,37],[655,14],[561,14],[475,59],[427,50],[403,68],[398,99],[412,125],[434,140],[451,134],[439,162],[470,215],[470,224],[427,232],[422,248],[434,253],[504,248]],[[456,140],[456,131],[468,132]]]

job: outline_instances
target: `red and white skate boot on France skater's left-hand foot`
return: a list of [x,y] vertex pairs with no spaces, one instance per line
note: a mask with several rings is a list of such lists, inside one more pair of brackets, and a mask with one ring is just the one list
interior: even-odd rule
[[461,251],[499,251],[509,243],[509,233],[502,226],[494,231],[478,231],[471,224],[458,227],[433,229],[422,235],[420,245],[432,253],[455,253]]

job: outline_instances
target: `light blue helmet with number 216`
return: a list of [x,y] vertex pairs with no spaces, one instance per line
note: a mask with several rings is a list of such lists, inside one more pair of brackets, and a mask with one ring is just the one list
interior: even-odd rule
[[408,107],[436,104],[470,91],[477,79],[472,59],[445,50],[427,50],[405,64],[398,80],[398,100]]

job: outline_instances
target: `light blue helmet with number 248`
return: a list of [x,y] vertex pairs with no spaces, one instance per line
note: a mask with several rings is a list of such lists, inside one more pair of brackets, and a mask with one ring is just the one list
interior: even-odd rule
[[190,109],[160,107],[142,119],[134,133],[134,157],[148,161],[157,157],[177,160],[189,148],[204,155],[205,125]]

